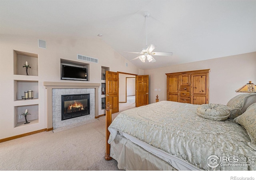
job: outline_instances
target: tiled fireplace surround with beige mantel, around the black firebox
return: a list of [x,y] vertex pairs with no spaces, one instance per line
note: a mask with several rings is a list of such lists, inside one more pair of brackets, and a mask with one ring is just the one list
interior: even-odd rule
[[[44,82],[47,89],[47,130],[86,122],[98,117],[98,88],[100,83]],[[88,94],[90,114],[62,120],[62,95]]]

